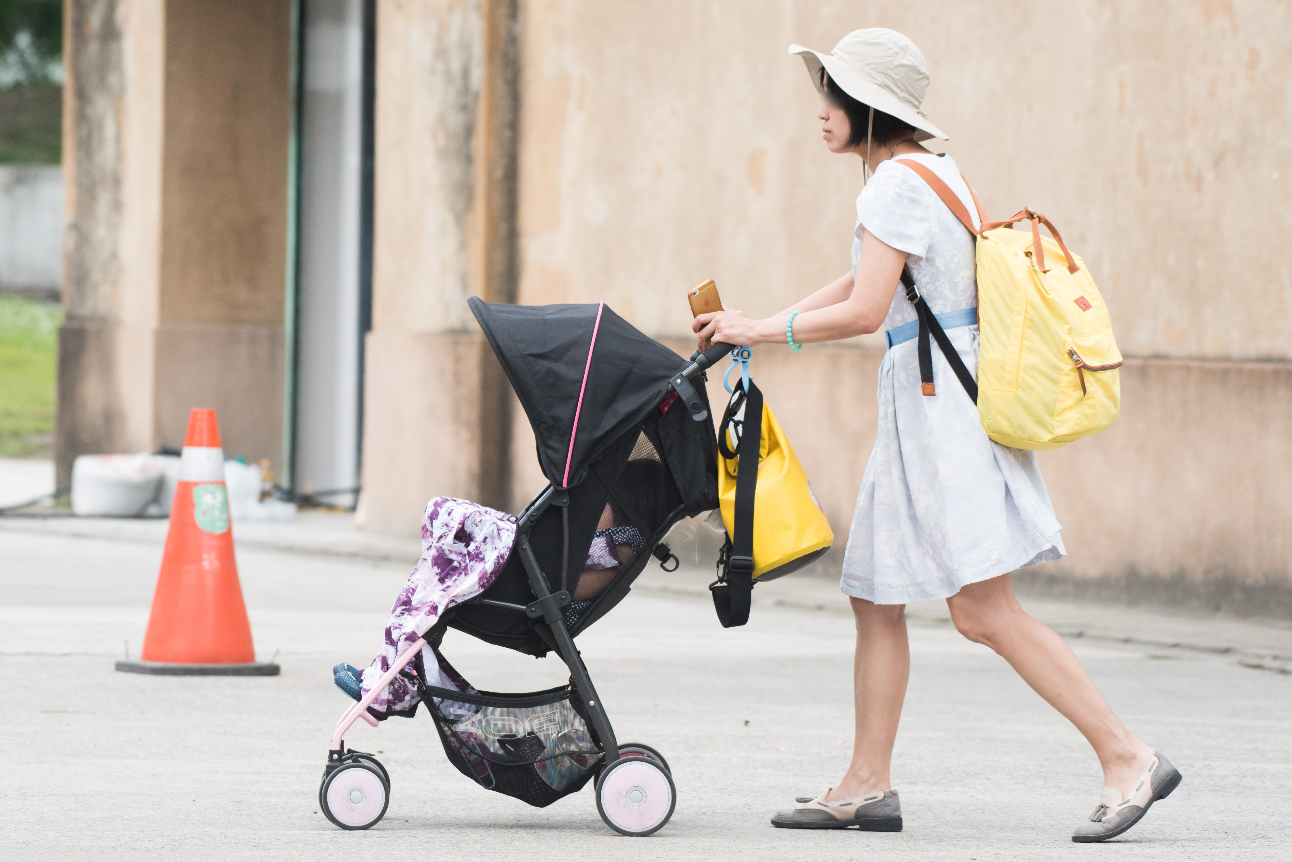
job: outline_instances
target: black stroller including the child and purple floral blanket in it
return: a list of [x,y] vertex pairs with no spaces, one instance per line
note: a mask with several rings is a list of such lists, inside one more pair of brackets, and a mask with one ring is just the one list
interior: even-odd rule
[[[650,559],[676,561],[663,539],[680,519],[717,506],[717,441],[693,381],[731,347],[682,360],[603,303],[470,306],[549,484],[514,517],[451,498],[428,506],[422,560],[391,612],[386,649],[333,732],[322,810],[342,828],[384,817],[389,776],[371,754],[345,748],[342,734],[424,703],[450,761],[486,790],[543,807],[594,781],[611,828],[650,835],[673,813],[668,764],[616,741],[574,639],[623,600]],[[536,657],[556,652],[570,683],[475,690],[439,653],[448,627]],[[353,697],[359,675],[341,671]]]

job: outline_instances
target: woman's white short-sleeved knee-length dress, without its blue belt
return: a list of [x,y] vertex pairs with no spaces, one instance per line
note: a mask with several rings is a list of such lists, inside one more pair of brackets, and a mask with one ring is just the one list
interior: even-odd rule
[[[951,156],[916,159],[956,192],[977,222]],[[864,226],[907,253],[907,266],[934,314],[978,305],[974,241],[920,177],[885,161],[857,199]],[[853,270],[860,240],[853,241]],[[898,288],[884,329],[915,320]],[[978,326],[947,329],[970,372]],[[866,466],[844,554],[840,588],[876,604],[944,599],[974,583],[1065,555],[1036,456],[987,439],[978,408],[933,347],[935,396],[920,392],[916,339],[891,347],[879,376],[879,431]]]

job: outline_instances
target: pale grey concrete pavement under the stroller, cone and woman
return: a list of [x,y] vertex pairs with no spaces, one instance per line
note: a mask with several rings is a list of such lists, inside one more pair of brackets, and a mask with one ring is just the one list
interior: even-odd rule
[[[686,566],[651,570],[580,639],[616,733],[654,745],[673,767],[677,812],[658,835],[612,834],[590,790],[545,809],[481,790],[447,763],[424,715],[350,732],[354,747],[382,752],[393,787],[375,830],[342,832],[317,805],[331,727],[346,705],[329,668],[376,650],[416,552],[401,539],[348,538],[346,524],[313,515],[288,528],[235,525],[258,658],[276,653],[283,675],[174,679],[112,671],[125,641],[138,654],[164,521],[0,519],[0,653],[16,694],[0,712],[0,857],[1286,854],[1292,676],[1276,672],[1292,654],[1286,626],[1025,601],[1061,631],[1066,621],[1068,634],[1083,632],[1070,643],[1114,708],[1185,773],[1115,845],[1087,847],[1067,837],[1101,783],[1084,741],[1001,659],[943,622],[944,605],[912,606],[911,688],[894,755],[906,831],[797,832],[767,817],[819,792],[849,756],[846,604],[831,583],[787,578],[756,591],[749,626],[725,631],[704,590],[709,572]],[[556,658],[457,632],[443,649],[479,688],[565,680]]]

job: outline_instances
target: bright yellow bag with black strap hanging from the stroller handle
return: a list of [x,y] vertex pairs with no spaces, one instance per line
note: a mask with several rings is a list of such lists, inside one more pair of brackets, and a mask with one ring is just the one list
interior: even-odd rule
[[[762,421],[751,426],[748,416]],[[747,446],[753,452],[753,445],[758,467],[742,474],[743,453]],[[748,396],[744,382],[736,383],[718,430],[718,506],[729,541],[724,572],[712,588],[718,619],[730,627],[748,619],[753,581],[771,581],[819,559],[835,533],[789,437],[753,381]]]

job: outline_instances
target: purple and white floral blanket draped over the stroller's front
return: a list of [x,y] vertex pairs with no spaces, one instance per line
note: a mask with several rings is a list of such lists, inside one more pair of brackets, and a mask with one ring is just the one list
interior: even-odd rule
[[[452,497],[435,497],[426,503],[421,516],[421,559],[390,609],[382,650],[363,671],[364,694],[446,610],[494,583],[512,555],[514,539],[512,515]],[[474,690],[430,644],[422,646],[420,658],[420,672],[429,685]],[[416,708],[417,690],[401,676],[370,707],[377,717],[412,715]]]

